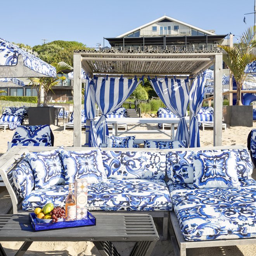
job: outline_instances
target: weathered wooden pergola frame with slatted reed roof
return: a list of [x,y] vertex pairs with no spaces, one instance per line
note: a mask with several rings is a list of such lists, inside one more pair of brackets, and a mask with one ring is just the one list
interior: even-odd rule
[[[104,77],[174,76],[194,78],[214,64],[213,144],[222,137],[222,52],[211,53],[122,53],[74,51],[74,147],[81,147],[81,68]],[[193,79],[190,80],[192,84]],[[90,122],[90,121],[89,121]],[[86,126],[90,123],[86,122]]]

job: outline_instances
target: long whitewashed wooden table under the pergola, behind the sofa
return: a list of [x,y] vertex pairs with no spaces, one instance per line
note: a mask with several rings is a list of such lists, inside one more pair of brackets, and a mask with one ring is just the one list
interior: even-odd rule
[[[160,132],[168,137],[171,137],[171,139],[174,140],[175,135],[174,135],[174,125],[178,124],[180,121],[180,118],[107,118],[107,124],[112,124],[112,135],[113,136],[118,136],[124,133],[156,133]],[[189,116],[185,117],[186,123],[189,123]],[[118,124],[135,124],[132,128],[128,129],[127,131],[121,131],[118,132]],[[155,131],[149,130],[149,131],[131,131],[135,127],[138,127],[140,125],[147,125],[150,128],[153,128]],[[165,133],[164,131],[157,129],[153,126],[150,126],[149,124],[171,124],[171,135],[168,133]]]

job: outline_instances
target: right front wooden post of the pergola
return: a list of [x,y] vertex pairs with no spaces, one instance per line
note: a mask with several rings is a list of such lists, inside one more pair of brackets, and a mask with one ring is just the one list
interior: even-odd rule
[[215,55],[213,102],[214,102],[213,146],[221,146],[222,144],[222,54]]

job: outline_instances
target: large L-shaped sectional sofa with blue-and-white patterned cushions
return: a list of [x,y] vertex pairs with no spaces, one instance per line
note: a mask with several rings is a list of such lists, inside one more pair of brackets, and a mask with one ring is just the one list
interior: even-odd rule
[[161,217],[162,239],[170,216],[169,231],[182,256],[190,247],[256,242],[256,181],[245,147],[50,149],[16,147],[0,157],[14,213],[48,201],[62,206],[67,184],[87,176],[89,211]]

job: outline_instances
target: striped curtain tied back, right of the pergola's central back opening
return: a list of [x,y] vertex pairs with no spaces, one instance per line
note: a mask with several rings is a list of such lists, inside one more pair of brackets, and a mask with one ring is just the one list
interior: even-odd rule
[[180,118],[175,140],[186,140],[189,144],[189,131],[185,120],[189,105],[189,80],[177,78],[150,79],[150,83],[166,107]]

